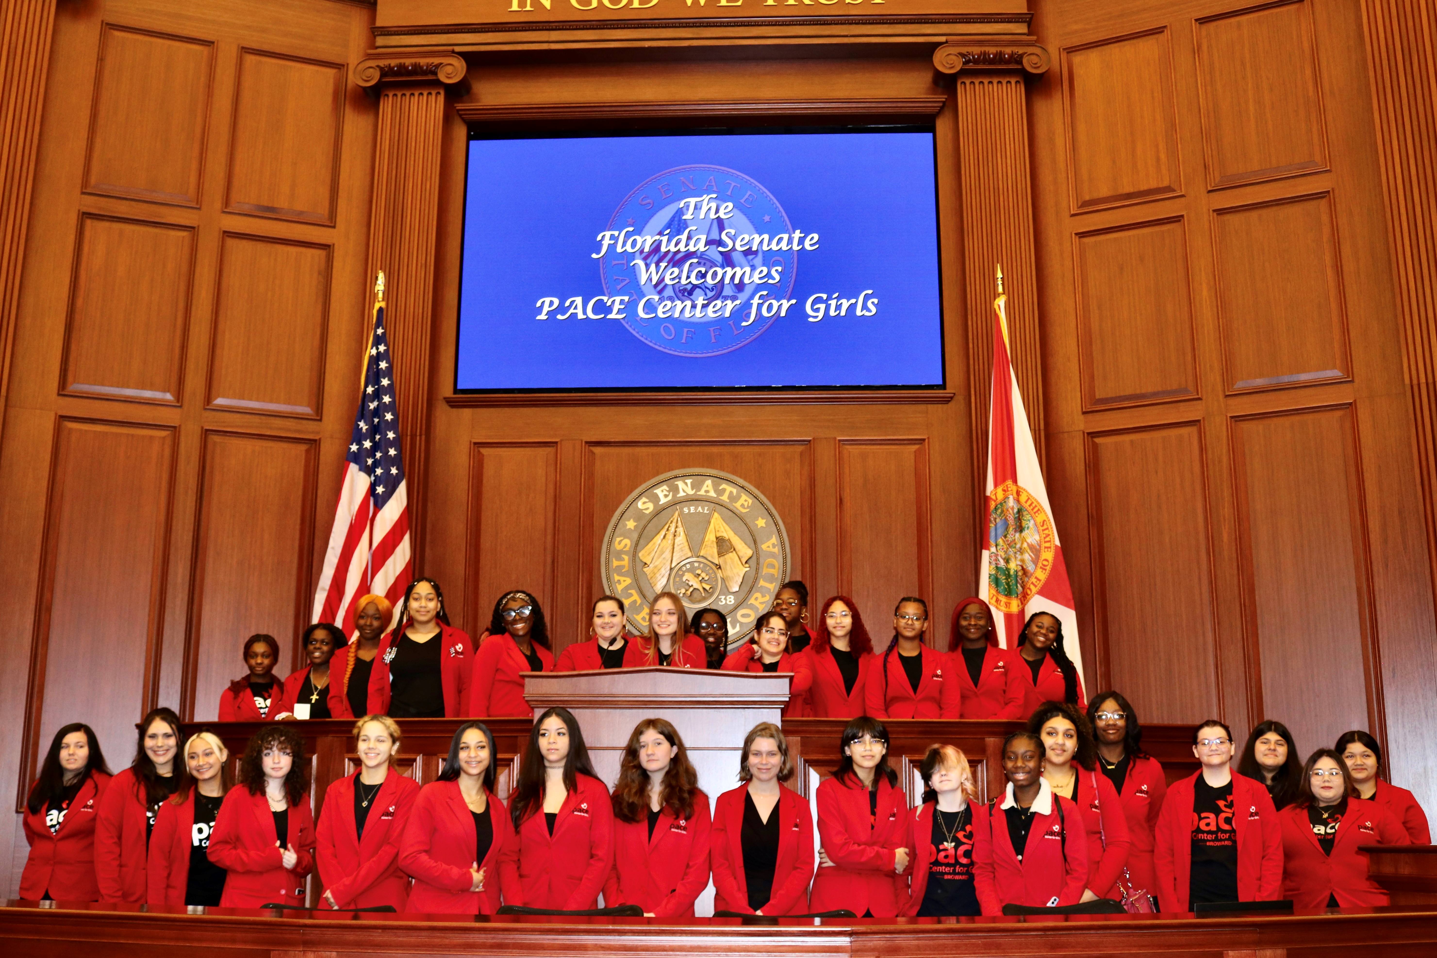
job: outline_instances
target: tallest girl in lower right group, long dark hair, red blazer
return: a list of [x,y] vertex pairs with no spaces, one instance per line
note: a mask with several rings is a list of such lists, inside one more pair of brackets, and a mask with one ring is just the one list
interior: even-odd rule
[[1095,695],[1088,704],[1088,721],[1098,740],[1098,770],[1118,790],[1128,820],[1127,876],[1118,890],[1155,898],[1152,833],[1167,796],[1167,776],[1158,760],[1142,751],[1142,725],[1127,698],[1118,692]]

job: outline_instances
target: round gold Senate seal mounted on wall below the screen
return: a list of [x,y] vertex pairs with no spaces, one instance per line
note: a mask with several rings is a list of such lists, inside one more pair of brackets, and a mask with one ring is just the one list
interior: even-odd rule
[[729,645],[789,577],[789,543],[773,506],[741,478],[678,470],[634,490],[609,521],[599,552],[604,587],[624,600],[631,632],[648,631],[648,606],[673,592],[690,618],[717,609]]

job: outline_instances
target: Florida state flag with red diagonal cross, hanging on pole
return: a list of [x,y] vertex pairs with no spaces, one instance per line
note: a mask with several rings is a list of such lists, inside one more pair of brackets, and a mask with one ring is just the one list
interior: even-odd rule
[[989,401],[987,536],[979,595],[997,616],[1003,648],[1016,648],[1027,616],[1048,612],[1063,626],[1063,651],[1082,676],[1078,615],[1068,566],[1048,506],[1043,471],[1027,428],[1023,396],[1007,350],[1007,296],[997,274],[993,300],[993,391]]

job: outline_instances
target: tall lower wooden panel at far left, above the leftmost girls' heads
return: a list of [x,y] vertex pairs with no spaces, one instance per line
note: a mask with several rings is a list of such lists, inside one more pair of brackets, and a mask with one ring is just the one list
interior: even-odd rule
[[154,701],[174,437],[129,422],[56,424],[17,801],[60,725],[91,725],[118,768]]

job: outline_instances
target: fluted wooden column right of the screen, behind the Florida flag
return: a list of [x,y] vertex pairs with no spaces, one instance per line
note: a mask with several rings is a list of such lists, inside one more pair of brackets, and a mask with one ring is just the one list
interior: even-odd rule
[[[1040,461],[1043,383],[1038,336],[1033,197],[1027,165],[1025,78],[1048,70],[1032,37],[950,40],[933,55],[940,73],[957,75],[958,190],[963,205],[963,279],[969,315],[969,376],[977,485],[987,468],[989,386],[993,378],[994,267],[1003,264],[1013,369]],[[981,491],[979,491],[981,496]]]

